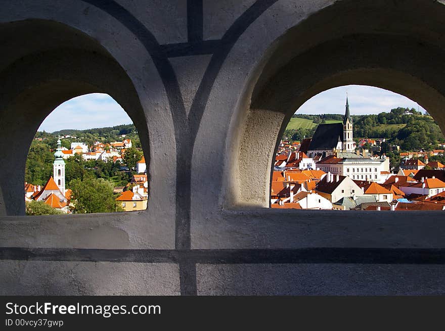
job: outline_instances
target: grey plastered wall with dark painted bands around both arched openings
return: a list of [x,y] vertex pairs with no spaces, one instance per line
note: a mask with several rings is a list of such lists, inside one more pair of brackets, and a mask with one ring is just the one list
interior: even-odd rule
[[[320,91],[390,89],[445,128],[444,2],[0,5],[0,294],[444,293],[441,212],[266,208],[277,138]],[[148,209],[23,216],[36,129],[91,92],[138,128]]]

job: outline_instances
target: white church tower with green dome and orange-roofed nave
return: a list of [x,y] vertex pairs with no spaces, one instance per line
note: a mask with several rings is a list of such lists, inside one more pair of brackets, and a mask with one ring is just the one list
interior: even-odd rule
[[31,196],[31,199],[43,201],[53,208],[68,213],[70,192],[71,190],[65,189],[65,161],[63,160],[62,143],[59,138],[56,153],[54,153],[53,176],[48,179],[39,192]]

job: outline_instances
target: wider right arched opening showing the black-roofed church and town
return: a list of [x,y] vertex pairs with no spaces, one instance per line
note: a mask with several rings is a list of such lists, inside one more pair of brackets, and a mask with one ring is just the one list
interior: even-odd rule
[[326,90],[292,115],[279,140],[272,208],[443,210],[445,139],[424,109],[397,93]]

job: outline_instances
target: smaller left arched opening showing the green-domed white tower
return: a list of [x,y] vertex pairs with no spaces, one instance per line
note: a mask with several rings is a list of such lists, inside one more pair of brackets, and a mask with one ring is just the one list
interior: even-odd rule
[[138,131],[108,94],[66,101],[41,123],[26,160],[27,215],[140,211],[147,201]]

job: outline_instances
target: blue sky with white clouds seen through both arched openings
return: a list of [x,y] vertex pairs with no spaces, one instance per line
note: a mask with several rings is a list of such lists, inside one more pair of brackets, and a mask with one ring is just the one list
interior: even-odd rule
[[[348,92],[351,115],[378,114],[396,107],[425,111],[416,102],[391,91],[362,85],[331,88],[306,101],[297,114],[343,114]],[[131,119],[108,94],[92,93],[73,98],[57,107],[42,122],[39,131],[89,129],[132,123]]]

